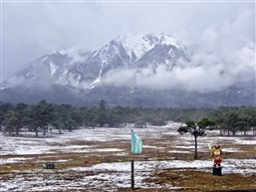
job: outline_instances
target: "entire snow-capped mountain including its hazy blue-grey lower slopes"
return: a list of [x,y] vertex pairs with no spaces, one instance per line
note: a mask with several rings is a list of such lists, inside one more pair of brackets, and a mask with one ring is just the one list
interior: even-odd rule
[[2,83],[2,101],[96,104],[105,99],[110,105],[152,107],[255,103],[254,94],[240,88],[200,94],[141,87],[140,76],[153,77],[159,69],[171,73],[189,61],[185,47],[170,36],[124,34],[94,52],[61,50],[29,63]]

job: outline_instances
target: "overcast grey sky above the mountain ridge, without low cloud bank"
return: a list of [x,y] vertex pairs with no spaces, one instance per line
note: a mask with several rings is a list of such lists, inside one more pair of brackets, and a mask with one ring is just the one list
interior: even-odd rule
[[[200,53],[195,58],[198,62],[213,53],[211,59],[215,63],[221,58],[228,63],[244,60],[249,68],[255,65],[253,1],[3,0],[1,11],[1,80],[53,51],[71,47],[95,51],[127,32],[170,35],[190,51]],[[244,57],[238,58],[236,54],[241,53]],[[236,71],[244,70],[240,68]]]

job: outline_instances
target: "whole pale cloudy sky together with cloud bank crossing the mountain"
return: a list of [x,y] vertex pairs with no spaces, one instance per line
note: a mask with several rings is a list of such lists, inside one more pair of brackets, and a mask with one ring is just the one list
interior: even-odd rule
[[213,92],[255,74],[254,2],[3,2],[2,10],[3,80],[44,54],[94,51],[126,32],[171,35],[192,61],[171,73],[110,72],[107,84]]

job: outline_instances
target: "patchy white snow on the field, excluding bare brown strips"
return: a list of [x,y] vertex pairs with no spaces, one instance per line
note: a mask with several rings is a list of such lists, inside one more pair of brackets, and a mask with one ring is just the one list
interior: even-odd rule
[[[166,138],[166,143],[157,142],[144,145],[146,150],[166,150],[168,154],[191,153],[193,155],[193,137],[191,135],[179,135],[176,128],[179,123],[171,123],[163,127],[133,128],[137,135],[146,142],[147,139]],[[247,137],[221,137],[218,132],[209,133],[211,136],[198,138],[198,151],[209,152],[208,143],[228,143],[224,152],[240,152],[239,145],[249,145],[250,150],[256,151],[256,140]],[[214,136],[216,135],[216,136]],[[255,138],[255,137],[254,137]],[[76,141],[76,142],[75,142]],[[88,141],[87,144],[72,144],[80,141]],[[94,142],[91,142],[94,141]],[[113,152],[121,159],[127,158],[129,151],[125,148],[108,147],[105,142],[130,143],[130,129],[125,128],[95,128],[78,129],[64,134],[49,133],[47,137],[5,137],[1,136],[1,170],[9,171],[0,175],[0,191],[118,191],[119,188],[130,187],[130,162],[99,162],[88,166],[78,164],[66,169],[12,169],[13,163],[33,163],[33,155],[59,154],[59,153],[99,153]],[[87,142],[86,142],[87,143]],[[92,144],[94,143],[94,144]],[[171,149],[169,148],[171,145]],[[8,158],[6,157],[8,155]],[[27,156],[29,155],[29,156]],[[139,156],[139,155],[138,155]],[[256,156],[256,153],[255,153]],[[153,157],[152,157],[153,158]],[[58,162],[66,162],[69,159],[59,159]],[[212,160],[145,160],[136,159],[135,186],[139,188],[165,188],[175,189],[173,186],[162,186],[145,182],[144,179],[151,176],[157,169],[193,168],[198,171],[210,172]],[[223,159],[222,174],[256,174],[256,159],[254,157],[244,159]],[[104,189],[104,190],[103,190]]]

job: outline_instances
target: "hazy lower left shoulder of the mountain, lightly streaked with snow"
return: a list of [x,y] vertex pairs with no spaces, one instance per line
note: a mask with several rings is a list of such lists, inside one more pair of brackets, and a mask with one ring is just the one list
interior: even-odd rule
[[88,50],[74,48],[52,52],[24,66],[3,82],[2,88],[31,85],[65,86],[69,82],[65,80],[69,78],[69,71],[76,64],[86,61],[91,54]]

